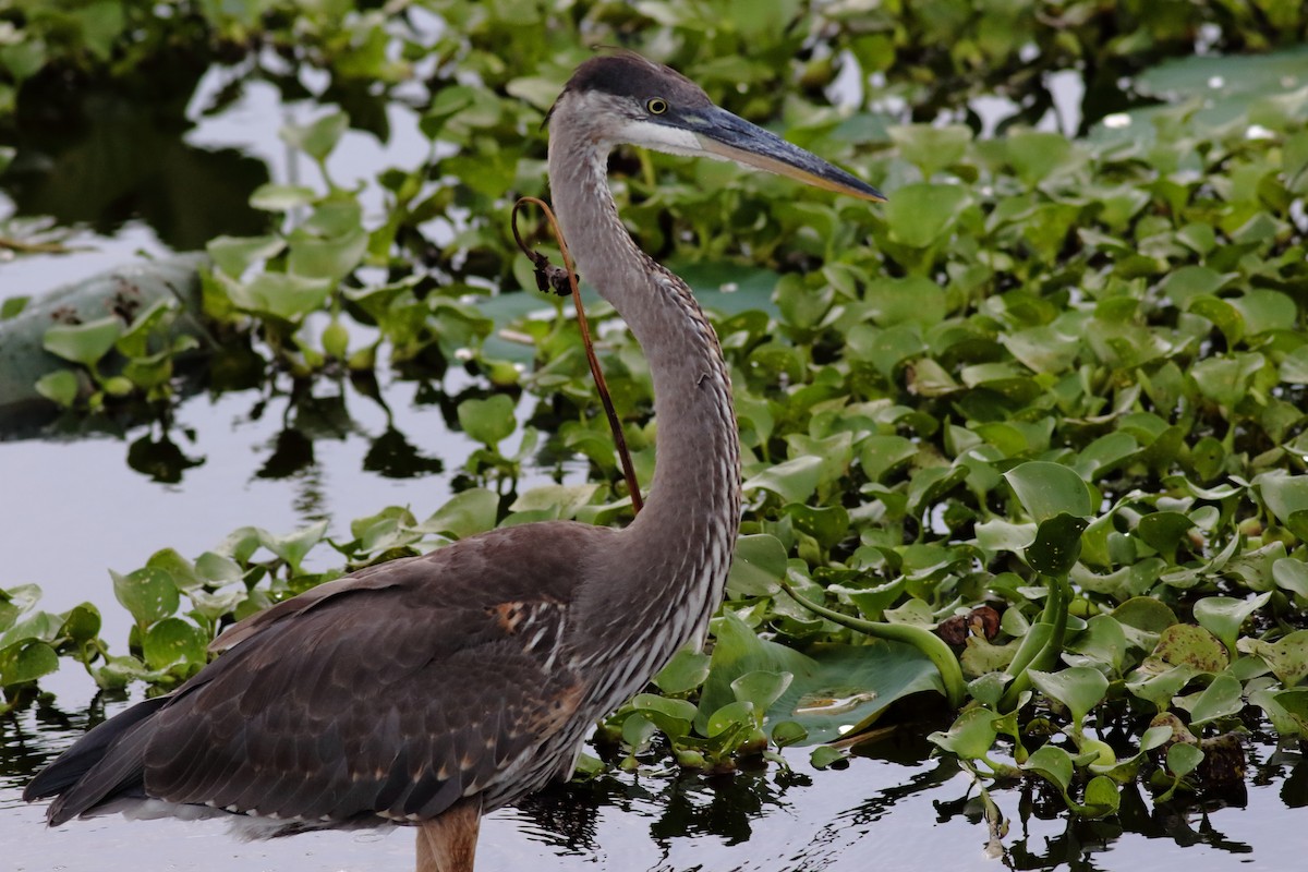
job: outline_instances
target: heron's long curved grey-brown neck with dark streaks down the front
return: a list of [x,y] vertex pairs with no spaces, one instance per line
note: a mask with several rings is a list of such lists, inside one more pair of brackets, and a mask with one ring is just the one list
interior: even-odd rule
[[[582,277],[630,327],[654,382],[654,480],[645,507],[624,531],[615,569],[645,584],[654,578],[662,586],[697,586],[687,591],[700,600],[691,604],[693,626],[675,650],[687,635],[702,633],[717,608],[739,529],[731,382],[717,335],[691,289],[637,248],[623,226],[606,178],[608,148],[569,136],[566,124],[552,127],[562,131],[551,135],[549,178],[568,246]],[[658,600],[662,592],[667,587],[637,599]],[[679,603],[683,611],[687,605]],[[628,599],[628,620],[630,608]]]

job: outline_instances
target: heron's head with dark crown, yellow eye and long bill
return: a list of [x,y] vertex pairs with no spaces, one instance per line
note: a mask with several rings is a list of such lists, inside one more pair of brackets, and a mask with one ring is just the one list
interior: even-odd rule
[[883,201],[880,191],[816,154],[715,106],[670,67],[629,51],[591,58],[577,68],[549,110],[604,145],[625,143],[688,157],[735,161],[828,191]]

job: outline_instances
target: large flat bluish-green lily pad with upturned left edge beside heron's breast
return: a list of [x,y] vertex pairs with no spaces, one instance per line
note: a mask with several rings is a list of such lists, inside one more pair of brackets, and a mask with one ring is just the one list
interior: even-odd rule
[[749,672],[789,672],[790,685],[764,723],[794,720],[808,743],[824,743],[870,726],[892,702],[913,693],[943,692],[939,672],[910,645],[872,639],[867,645],[824,645],[807,654],[759,638],[731,612],[713,620],[713,668],[700,697],[696,726],[735,699],[731,682]]

